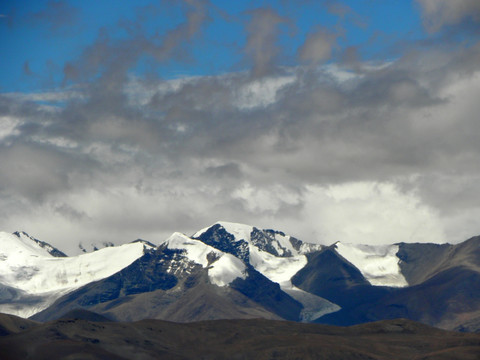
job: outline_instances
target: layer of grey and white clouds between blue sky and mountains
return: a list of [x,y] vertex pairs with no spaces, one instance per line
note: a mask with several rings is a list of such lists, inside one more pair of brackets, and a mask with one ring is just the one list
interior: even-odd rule
[[[456,15],[419,3],[430,31],[477,20],[473,2]],[[140,18],[122,25],[127,37],[101,32],[64,67],[62,90],[0,95],[0,228],[72,253],[219,219],[327,244],[478,233],[479,43],[321,65],[336,37],[316,28],[301,63],[284,66],[276,39],[289,20],[261,8],[246,14],[249,71],[132,74],[146,55],[190,56],[208,7],[185,2],[185,22],[163,36]]]

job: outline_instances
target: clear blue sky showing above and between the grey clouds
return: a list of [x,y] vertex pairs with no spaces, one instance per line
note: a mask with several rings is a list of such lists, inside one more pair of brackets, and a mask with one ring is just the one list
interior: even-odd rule
[[[0,4],[0,89],[39,91],[62,85],[63,68],[80,56],[100,32],[116,39],[128,36],[127,22],[137,22],[145,36],[161,37],[185,20],[181,2],[151,1],[4,1]],[[186,45],[184,58],[152,61],[148,55],[129,71],[153,71],[170,79],[248,69],[242,49],[251,10],[268,7],[285,22],[279,26],[279,64],[297,63],[296,52],[309,32],[322,27],[337,41],[328,61],[341,59],[348,47],[360,59],[383,61],[398,57],[400,43],[425,37],[414,1],[213,1],[208,21]],[[137,21],[141,17],[141,21]]]

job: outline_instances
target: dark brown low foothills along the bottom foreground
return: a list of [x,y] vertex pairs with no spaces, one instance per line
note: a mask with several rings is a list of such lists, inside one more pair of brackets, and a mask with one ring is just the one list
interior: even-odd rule
[[216,320],[189,324],[57,320],[0,337],[17,359],[478,359],[480,335],[408,320],[350,328],[285,321]]

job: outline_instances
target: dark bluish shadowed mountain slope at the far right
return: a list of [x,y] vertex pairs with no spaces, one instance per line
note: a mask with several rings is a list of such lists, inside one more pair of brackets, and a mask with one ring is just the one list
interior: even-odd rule
[[[455,329],[480,312],[480,274],[465,267],[445,270],[422,284],[393,289],[377,301],[344,308],[318,319],[322,324],[353,324],[408,318]],[[469,331],[477,331],[475,322]],[[467,328],[464,328],[467,329]]]

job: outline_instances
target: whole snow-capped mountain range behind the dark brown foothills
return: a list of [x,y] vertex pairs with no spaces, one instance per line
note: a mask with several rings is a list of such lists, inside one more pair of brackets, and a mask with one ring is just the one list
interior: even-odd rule
[[37,321],[81,308],[116,321],[406,318],[480,330],[480,237],[324,246],[218,222],[159,246],[137,241],[67,257],[25,233],[1,233],[0,274],[0,312]]

